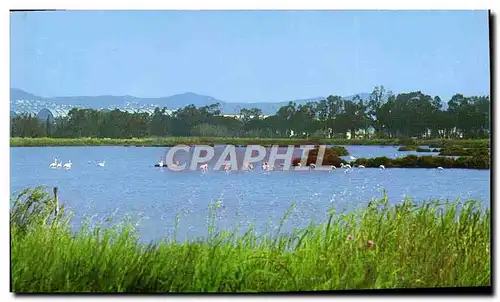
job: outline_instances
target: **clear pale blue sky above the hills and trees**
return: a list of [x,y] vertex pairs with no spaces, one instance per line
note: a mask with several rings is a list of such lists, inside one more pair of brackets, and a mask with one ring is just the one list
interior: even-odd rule
[[490,81],[487,11],[14,12],[10,50],[11,87],[44,97],[446,100]]

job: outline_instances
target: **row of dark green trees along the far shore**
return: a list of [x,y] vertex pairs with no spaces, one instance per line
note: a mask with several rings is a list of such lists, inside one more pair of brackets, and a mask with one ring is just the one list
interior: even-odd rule
[[303,137],[303,138],[487,138],[489,96],[455,94],[446,109],[439,96],[421,91],[393,94],[376,86],[367,100],[355,96],[297,105],[289,102],[274,115],[258,108],[224,116],[220,105],[188,105],[172,113],[129,113],[118,109],[70,110],[65,117],[40,121],[21,114],[11,118],[12,137],[132,138],[148,136]]

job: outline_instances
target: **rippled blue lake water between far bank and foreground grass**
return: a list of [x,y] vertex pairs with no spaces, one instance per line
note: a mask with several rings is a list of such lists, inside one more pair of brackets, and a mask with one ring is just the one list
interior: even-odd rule
[[[394,146],[346,146],[355,157],[402,157]],[[112,214],[139,221],[139,235],[147,242],[171,236],[180,215],[177,238],[207,234],[209,204],[221,201],[217,224],[223,228],[254,225],[264,232],[275,229],[283,214],[296,205],[285,230],[321,222],[330,208],[352,210],[365,206],[387,191],[392,203],[405,197],[478,199],[489,206],[490,171],[466,169],[353,169],[264,173],[238,171],[172,172],[154,164],[167,148],[148,147],[43,147],[11,148],[11,193],[28,187],[57,186],[60,200],[74,212],[73,223]],[[71,170],[51,169],[56,157],[71,160]],[[105,160],[105,166],[95,162]],[[51,192],[51,189],[50,189]]]

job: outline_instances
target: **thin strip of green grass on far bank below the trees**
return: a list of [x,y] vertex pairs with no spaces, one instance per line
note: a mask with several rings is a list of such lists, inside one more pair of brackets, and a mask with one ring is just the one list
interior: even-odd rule
[[417,140],[405,139],[297,139],[297,138],[238,138],[238,137],[152,137],[152,138],[21,138],[11,137],[11,147],[43,146],[175,146],[179,144],[233,144],[233,145],[457,145],[467,148],[488,147],[489,139],[477,140]]

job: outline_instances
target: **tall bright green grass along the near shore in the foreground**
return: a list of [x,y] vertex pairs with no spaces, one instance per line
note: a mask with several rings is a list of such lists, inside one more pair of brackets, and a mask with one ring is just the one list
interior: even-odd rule
[[[218,205],[211,207],[209,217]],[[13,204],[14,292],[277,292],[489,286],[490,212],[478,203],[437,201],[331,213],[325,224],[257,237],[141,245],[133,228],[84,228],[44,192]],[[210,220],[209,220],[210,221]],[[212,220],[213,222],[213,220]]]

